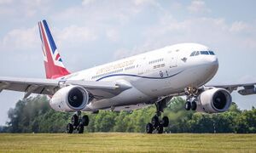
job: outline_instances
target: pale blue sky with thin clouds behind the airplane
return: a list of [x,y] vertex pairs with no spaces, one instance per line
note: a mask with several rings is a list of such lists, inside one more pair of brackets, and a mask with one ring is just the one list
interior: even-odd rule
[[[44,78],[38,20],[47,20],[69,71],[179,42],[198,42],[218,55],[211,83],[256,82],[254,0],[0,0],[0,76]],[[22,93],[0,94],[0,125]],[[241,108],[256,95],[233,93]]]

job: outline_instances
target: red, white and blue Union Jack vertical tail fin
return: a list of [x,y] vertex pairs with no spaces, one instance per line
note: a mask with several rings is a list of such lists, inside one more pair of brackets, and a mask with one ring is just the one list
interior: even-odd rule
[[38,27],[42,41],[46,78],[55,79],[70,74],[62,63],[61,55],[56,48],[46,20],[39,21]]

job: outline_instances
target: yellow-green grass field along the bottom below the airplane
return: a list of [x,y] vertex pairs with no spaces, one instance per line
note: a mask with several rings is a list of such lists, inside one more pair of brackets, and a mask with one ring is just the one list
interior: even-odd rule
[[0,152],[256,152],[256,134],[0,134]]

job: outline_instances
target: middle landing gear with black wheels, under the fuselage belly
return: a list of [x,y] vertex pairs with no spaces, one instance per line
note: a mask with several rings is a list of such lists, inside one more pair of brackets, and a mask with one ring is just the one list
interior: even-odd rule
[[148,122],[146,126],[147,133],[163,133],[164,127],[168,127],[169,125],[169,118],[164,116],[161,119],[161,113],[164,112],[166,108],[167,99],[162,99],[160,102],[155,103],[156,112],[155,115],[152,117],[151,122]]

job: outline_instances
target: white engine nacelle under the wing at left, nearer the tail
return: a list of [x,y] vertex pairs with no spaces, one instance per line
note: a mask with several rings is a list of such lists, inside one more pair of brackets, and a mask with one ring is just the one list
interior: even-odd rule
[[67,86],[58,90],[49,105],[55,111],[81,111],[89,102],[88,92],[80,86]]

